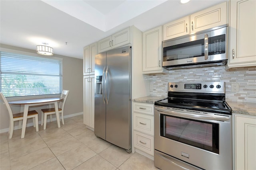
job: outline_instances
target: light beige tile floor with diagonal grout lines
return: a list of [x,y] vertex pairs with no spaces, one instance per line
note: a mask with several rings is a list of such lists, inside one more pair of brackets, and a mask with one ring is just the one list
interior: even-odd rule
[[0,170],[157,170],[154,161],[128,153],[94,135],[83,124],[83,116],[64,119],[65,125],[49,122],[46,130],[27,127],[12,139],[0,134]]

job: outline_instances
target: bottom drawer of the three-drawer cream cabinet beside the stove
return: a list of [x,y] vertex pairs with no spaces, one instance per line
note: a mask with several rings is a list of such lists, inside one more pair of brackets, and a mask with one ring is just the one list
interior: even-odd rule
[[154,137],[134,131],[134,147],[154,156]]

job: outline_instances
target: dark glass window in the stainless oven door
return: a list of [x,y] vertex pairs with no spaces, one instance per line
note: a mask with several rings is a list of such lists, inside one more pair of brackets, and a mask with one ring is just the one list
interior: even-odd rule
[[219,153],[219,125],[206,121],[160,114],[161,136]]

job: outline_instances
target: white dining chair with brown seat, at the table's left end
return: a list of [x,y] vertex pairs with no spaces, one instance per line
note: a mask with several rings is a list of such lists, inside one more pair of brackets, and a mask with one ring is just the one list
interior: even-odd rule
[[[7,100],[4,97],[4,94],[2,92],[0,92],[0,96],[1,96],[2,100],[4,101],[4,104],[7,107],[7,110],[9,113],[9,117],[10,117],[9,139],[12,139],[12,134],[13,134],[13,129],[14,129],[14,121],[22,121],[23,112],[13,114],[9,103],[7,102]],[[29,118],[33,118],[34,127],[36,127],[36,131],[38,132],[38,112],[35,110],[28,111],[28,119]],[[20,127],[20,125],[19,125],[19,127]]]

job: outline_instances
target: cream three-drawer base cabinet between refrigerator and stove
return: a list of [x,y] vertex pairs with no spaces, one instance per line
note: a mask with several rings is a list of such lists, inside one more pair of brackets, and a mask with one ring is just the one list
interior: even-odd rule
[[136,152],[154,156],[154,105],[133,102],[133,145]]

